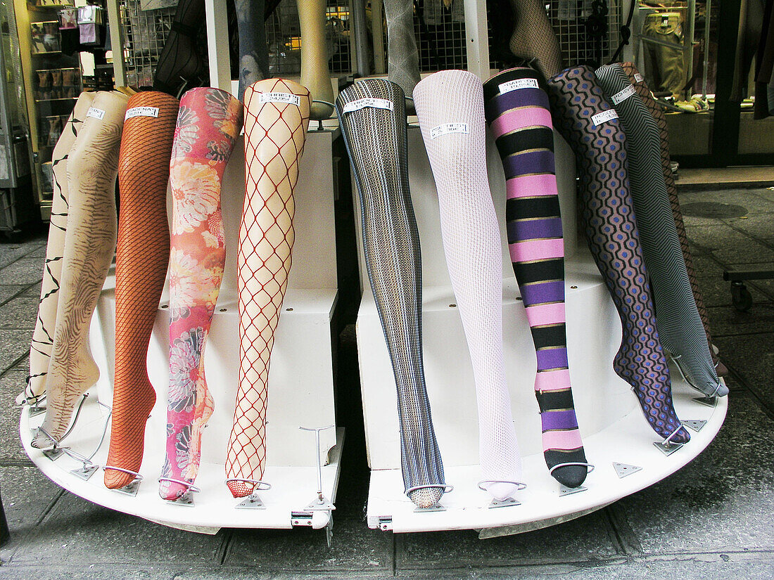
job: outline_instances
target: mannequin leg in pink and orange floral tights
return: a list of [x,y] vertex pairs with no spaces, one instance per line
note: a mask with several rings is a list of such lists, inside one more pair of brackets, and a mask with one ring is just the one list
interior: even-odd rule
[[213,411],[203,355],[226,260],[221,183],[241,124],[241,103],[224,90],[192,89],[180,100],[170,171],[170,389],[161,473],[169,479],[159,484],[165,500],[189,489],[178,482],[194,483],[202,428]]

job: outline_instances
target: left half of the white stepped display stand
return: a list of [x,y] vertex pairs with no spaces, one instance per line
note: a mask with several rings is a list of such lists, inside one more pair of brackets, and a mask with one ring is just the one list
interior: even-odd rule
[[[215,533],[221,527],[289,528],[330,527],[330,509],[307,509],[317,497],[317,445],[313,432],[303,428],[330,428],[320,432],[319,459],[322,492],[333,501],[339,475],[344,430],[336,429],[334,373],[330,322],[337,302],[333,142],[338,130],[309,131],[300,176],[294,193],[296,239],[288,289],[279,319],[269,371],[267,459],[263,480],[271,490],[257,494],[265,509],[237,509],[225,484],[224,462],[238,390],[239,330],[236,256],[241,206],[245,193],[244,143],[240,137],[224,175],[222,212],[226,234],[226,264],[205,349],[207,383],[214,397],[214,414],[202,438],[201,466],[191,493],[193,506],[162,500],[158,478],[166,442],[166,393],[169,382],[168,288],[165,288],[149,346],[148,371],[156,389],[156,406],[146,426],[144,477],[136,496],[108,490],[102,473],[85,481],[71,473],[83,462],[64,454],[52,461],[30,446],[31,428],[43,415],[22,412],[21,435],[26,452],[53,481],[105,507],[132,513],[173,527]],[[168,192],[168,196],[170,192]],[[168,203],[168,206],[170,204]],[[112,404],[115,368],[115,276],[111,270],[91,323],[91,350],[101,377],[89,391],[73,432],[63,445],[104,466],[110,430],[100,439]]]

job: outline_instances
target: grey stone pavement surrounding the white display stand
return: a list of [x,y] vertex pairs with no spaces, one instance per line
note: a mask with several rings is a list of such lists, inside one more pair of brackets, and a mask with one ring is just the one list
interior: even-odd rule
[[[714,339],[731,369],[728,418],[694,462],[566,524],[479,540],[474,531],[391,534],[365,524],[368,469],[351,327],[339,351],[348,428],[334,543],[323,531],[173,530],[60,490],[19,443],[46,238],[0,245],[0,485],[12,541],[0,578],[751,578],[774,577],[774,281],[731,307],[724,268],[774,268],[774,191],[681,193]],[[735,207],[736,206],[736,207]]]

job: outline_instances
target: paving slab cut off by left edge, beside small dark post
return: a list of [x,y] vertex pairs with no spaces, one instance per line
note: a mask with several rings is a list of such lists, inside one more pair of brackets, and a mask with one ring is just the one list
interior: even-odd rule
[[6,563],[36,533],[36,525],[62,490],[34,466],[0,466],[0,490],[11,530],[11,541],[0,549],[0,578],[5,578]]

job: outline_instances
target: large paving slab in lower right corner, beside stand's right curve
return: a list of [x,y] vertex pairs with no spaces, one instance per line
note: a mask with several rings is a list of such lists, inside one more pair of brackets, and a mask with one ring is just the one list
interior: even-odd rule
[[752,397],[697,459],[611,507],[646,554],[774,550],[774,421]]

